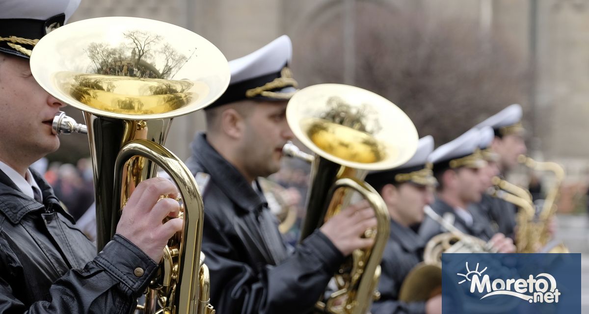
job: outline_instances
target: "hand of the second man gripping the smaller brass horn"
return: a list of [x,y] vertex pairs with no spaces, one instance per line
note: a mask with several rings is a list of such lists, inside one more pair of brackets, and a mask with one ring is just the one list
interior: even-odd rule
[[327,220],[320,228],[344,256],[355,249],[364,249],[374,244],[373,237],[363,237],[367,229],[376,227],[374,210],[368,201],[359,201],[346,207]]

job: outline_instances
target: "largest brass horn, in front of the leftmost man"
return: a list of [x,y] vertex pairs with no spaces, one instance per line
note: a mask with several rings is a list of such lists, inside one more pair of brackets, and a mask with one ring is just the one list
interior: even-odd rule
[[[184,227],[168,240],[145,313],[214,313],[200,252],[203,201],[194,177],[163,146],[173,117],[220,97],[229,65],[187,29],[142,18],[94,18],[60,27],[31,55],[39,85],[84,111],[94,166],[98,250],[114,236],[135,186],[163,168],[180,191]],[[63,115],[55,133],[84,131]]]

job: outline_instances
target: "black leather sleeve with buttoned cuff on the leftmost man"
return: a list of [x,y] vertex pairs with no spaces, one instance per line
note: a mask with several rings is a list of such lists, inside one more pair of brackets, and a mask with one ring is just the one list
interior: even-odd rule
[[[6,259],[0,273],[0,313],[131,313],[157,264],[123,236],[115,234],[111,242],[83,269],[71,269],[49,289],[50,301],[32,303],[26,308],[8,285],[19,267],[14,252],[0,237],[0,258]],[[135,269],[142,269],[135,272]],[[135,276],[137,275],[141,276]]]

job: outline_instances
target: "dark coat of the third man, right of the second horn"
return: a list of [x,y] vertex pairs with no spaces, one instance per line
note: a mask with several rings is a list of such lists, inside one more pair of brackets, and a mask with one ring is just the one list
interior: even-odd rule
[[421,314],[425,302],[399,301],[399,290],[409,271],[423,260],[425,242],[415,231],[391,220],[391,236],[380,262],[380,299],[372,305],[372,314]]

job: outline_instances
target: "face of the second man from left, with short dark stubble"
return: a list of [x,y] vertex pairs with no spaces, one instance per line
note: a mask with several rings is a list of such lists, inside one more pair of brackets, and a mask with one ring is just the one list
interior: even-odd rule
[[292,140],[286,122],[287,101],[259,101],[245,118],[244,160],[249,173],[266,177],[280,170],[282,147]]

